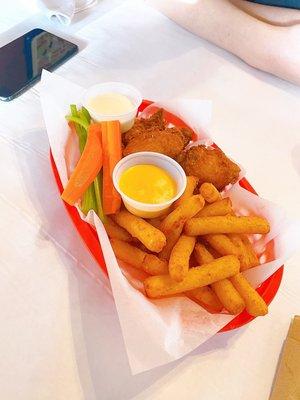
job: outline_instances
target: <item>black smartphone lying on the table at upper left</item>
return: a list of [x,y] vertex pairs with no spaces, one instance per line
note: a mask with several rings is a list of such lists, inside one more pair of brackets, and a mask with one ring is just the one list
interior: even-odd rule
[[78,46],[43,29],[33,29],[0,48],[0,100],[19,96],[41,76],[78,52]]

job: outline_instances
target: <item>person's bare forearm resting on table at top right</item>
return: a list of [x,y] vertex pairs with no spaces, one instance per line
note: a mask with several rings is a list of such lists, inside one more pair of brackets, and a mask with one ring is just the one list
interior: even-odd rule
[[300,84],[300,26],[268,24],[229,0],[147,2],[184,28],[230,51],[253,67]]

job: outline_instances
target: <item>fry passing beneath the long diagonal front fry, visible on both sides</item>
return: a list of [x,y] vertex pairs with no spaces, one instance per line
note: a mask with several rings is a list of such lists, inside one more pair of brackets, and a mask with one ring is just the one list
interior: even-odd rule
[[[214,260],[212,254],[201,243],[197,243],[195,246],[195,256],[200,265]],[[218,282],[214,282],[211,284],[211,287],[224,308],[230,314],[237,315],[243,311],[245,302],[229,279],[222,279]]]

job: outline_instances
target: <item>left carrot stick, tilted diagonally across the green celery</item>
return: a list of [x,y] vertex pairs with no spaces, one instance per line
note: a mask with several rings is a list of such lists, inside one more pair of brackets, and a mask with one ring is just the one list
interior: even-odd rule
[[85,193],[102,168],[101,125],[91,124],[88,128],[86,145],[76,168],[61,197],[74,205]]

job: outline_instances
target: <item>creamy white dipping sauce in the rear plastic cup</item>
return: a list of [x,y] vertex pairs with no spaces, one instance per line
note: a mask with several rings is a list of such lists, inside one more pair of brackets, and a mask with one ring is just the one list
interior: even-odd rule
[[102,115],[121,115],[134,109],[128,97],[120,93],[104,93],[92,97],[87,103],[95,113]]

